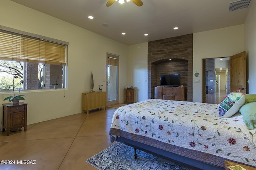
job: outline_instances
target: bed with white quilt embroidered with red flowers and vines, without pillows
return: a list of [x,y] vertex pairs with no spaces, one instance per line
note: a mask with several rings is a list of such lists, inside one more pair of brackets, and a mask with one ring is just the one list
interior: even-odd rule
[[149,99],[116,109],[110,141],[185,164],[225,169],[224,160],[256,167],[256,129],[242,115],[219,116],[217,104]]

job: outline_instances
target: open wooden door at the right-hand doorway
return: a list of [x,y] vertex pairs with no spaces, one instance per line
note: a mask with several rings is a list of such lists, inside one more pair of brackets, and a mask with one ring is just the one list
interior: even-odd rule
[[230,57],[230,92],[240,90],[246,93],[245,51]]

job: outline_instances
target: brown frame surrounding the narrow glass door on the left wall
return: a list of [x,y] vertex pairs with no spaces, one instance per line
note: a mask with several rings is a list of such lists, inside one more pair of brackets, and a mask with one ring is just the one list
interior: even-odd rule
[[[116,69],[116,100],[113,101],[108,101],[108,57],[116,58],[117,59],[117,69]],[[106,54],[106,101],[107,101],[107,106],[118,104],[118,96],[119,96],[119,56],[111,53]]]

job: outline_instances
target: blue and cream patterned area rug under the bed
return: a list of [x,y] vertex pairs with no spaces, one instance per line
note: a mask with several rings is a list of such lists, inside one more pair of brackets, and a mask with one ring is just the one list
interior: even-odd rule
[[115,143],[86,162],[99,170],[192,170],[122,143]]

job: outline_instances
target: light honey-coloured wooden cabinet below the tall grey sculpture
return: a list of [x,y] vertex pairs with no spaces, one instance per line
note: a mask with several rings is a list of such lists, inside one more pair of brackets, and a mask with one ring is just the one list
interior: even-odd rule
[[107,92],[86,92],[82,93],[82,113],[86,111],[89,113],[89,110],[98,109],[104,107],[106,109],[107,105]]

